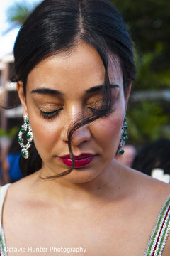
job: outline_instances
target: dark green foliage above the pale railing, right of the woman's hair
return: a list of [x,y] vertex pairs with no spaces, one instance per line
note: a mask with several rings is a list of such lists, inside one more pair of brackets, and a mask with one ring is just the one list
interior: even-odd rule
[[154,84],[157,88],[170,87],[170,1],[111,1],[123,14],[135,42],[137,68],[141,68],[139,61],[142,62],[138,75],[143,82],[137,88],[149,89]]

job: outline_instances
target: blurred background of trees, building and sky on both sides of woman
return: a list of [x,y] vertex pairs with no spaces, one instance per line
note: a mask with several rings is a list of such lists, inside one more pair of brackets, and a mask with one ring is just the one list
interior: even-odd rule
[[[170,1],[113,0],[132,38],[137,78],[127,112],[128,144],[139,151],[158,139],[170,139]],[[13,73],[13,43],[36,0],[6,0],[0,4],[0,105],[18,102]],[[0,110],[1,155],[23,120],[21,105]]]

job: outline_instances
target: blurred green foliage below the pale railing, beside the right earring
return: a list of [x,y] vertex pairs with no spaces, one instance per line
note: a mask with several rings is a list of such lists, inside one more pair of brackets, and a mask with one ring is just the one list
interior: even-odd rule
[[160,102],[141,101],[130,105],[128,111],[128,135],[133,144],[146,143],[159,137],[169,137],[165,129],[169,115],[164,113]]

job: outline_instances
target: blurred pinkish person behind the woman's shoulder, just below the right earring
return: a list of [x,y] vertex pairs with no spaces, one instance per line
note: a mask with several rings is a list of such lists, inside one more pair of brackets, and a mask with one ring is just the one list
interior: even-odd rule
[[117,156],[117,160],[120,161],[120,163],[125,164],[125,166],[131,167],[132,162],[135,159],[135,156],[137,154],[135,146],[125,145],[124,151],[125,151],[124,154]]

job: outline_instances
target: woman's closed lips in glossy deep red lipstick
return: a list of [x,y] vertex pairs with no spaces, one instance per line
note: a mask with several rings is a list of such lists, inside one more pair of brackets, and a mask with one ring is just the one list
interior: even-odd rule
[[[74,168],[80,168],[80,167],[86,166],[94,159],[95,156],[96,155],[94,154],[81,154],[79,156],[74,156],[75,157]],[[72,159],[70,159],[69,155],[60,156],[59,159],[67,166],[72,167]]]

